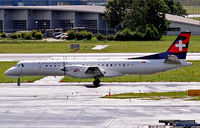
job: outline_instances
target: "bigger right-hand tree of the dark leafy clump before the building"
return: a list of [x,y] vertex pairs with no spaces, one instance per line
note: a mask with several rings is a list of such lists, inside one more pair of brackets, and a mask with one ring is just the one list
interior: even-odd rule
[[132,31],[145,33],[147,25],[153,25],[160,35],[165,34],[169,22],[165,18],[167,5],[163,0],[133,0],[131,11],[127,13],[124,26]]

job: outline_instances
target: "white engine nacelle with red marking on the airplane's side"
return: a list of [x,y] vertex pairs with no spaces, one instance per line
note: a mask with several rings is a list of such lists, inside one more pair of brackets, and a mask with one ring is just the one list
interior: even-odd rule
[[67,66],[66,74],[75,78],[93,78],[94,74],[86,74],[88,67],[84,66]]

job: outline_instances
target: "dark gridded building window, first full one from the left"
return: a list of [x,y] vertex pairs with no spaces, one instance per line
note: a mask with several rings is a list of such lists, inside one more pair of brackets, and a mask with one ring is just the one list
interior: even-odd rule
[[13,20],[14,31],[26,30],[26,20]]

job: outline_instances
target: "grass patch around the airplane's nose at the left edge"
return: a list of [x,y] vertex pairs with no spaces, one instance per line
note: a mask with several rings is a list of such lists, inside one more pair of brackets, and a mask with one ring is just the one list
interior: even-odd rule
[[[0,62],[0,83],[15,83],[16,78],[8,78],[4,72],[15,65],[17,62]],[[21,77],[21,82],[34,82],[42,77]]]

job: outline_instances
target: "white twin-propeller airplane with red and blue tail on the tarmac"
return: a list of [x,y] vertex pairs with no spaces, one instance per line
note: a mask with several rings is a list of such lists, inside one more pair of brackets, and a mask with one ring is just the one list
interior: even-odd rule
[[21,61],[5,74],[21,76],[70,76],[74,78],[94,78],[94,87],[100,86],[103,77],[123,75],[155,74],[192,65],[186,62],[191,32],[181,32],[166,52],[123,60],[37,60]]

